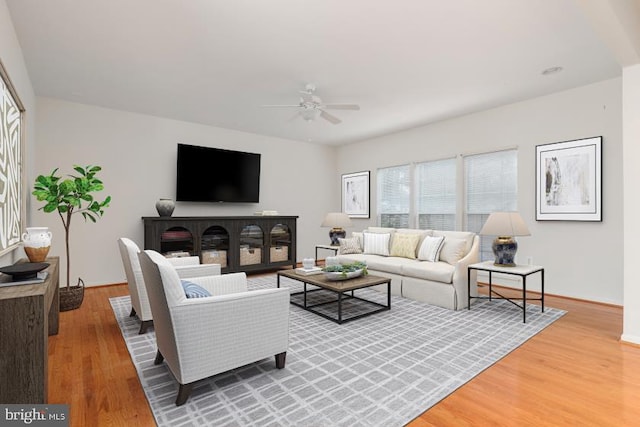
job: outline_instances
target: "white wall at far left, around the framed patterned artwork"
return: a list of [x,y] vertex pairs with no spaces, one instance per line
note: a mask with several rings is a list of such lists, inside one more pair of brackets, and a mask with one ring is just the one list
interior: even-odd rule
[[[33,88],[31,87],[31,80],[27,73],[24,58],[22,57],[22,50],[20,49],[20,44],[18,43],[18,39],[13,28],[13,22],[11,21],[11,16],[9,15],[9,10],[4,0],[0,0],[0,60],[9,74],[9,78],[11,79],[18,97],[25,108],[23,122],[25,126],[25,144],[23,145],[24,152],[22,167],[25,180],[30,180],[32,176],[31,171],[33,171],[33,165],[35,164],[35,157],[33,156],[33,153],[35,147],[36,98],[33,93]],[[28,205],[25,210],[28,221]],[[0,257],[0,265],[13,264],[16,260],[24,256],[24,251],[20,247],[17,250]]]

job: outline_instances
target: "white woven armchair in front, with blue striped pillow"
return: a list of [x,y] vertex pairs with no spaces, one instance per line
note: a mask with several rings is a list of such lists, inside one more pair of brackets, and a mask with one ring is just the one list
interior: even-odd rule
[[244,273],[189,279],[211,296],[187,298],[175,268],[162,255],[139,254],[154,317],[158,352],[179,383],[176,405],[194,382],[275,356],[285,365],[289,347],[289,291],[247,290]]

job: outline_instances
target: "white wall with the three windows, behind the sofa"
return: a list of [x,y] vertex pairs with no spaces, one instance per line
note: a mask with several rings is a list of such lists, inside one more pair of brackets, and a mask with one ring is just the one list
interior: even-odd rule
[[[613,79],[340,147],[336,179],[371,170],[372,216],[353,229],[376,222],[377,168],[517,146],[518,207],[532,234],[518,239],[519,259],[545,267],[547,293],[622,304],[621,106]],[[535,146],[600,135],[603,222],[536,222]]]

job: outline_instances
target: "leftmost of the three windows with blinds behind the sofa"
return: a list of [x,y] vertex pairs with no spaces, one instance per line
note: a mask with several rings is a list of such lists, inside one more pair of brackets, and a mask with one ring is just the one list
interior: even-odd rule
[[378,224],[381,227],[408,228],[411,208],[411,170],[409,165],[378,169]]

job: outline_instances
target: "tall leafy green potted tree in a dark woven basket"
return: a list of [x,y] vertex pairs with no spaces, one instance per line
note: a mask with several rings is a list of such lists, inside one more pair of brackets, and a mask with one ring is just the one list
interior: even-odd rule
[[45,205],[39,208],[47,213],[57,212],[64,227],[65,252],[67,257],[67,286],[60,289],[60,311],[73,310],[82,304],[84,298],[84,282],[78,278],[76,286],[70,286],[69,231],[74,214],[82,214],[84,220],[96,222],[104,214],[104,208],[109,206],[111,196],[102,202],[94,199],[93,193],[102,191],[102,181],[96,174],[102,170],[100,166],[73,166],[77,175],[61,177],[56,175],[55,168],[49,175],[39,175],[36,178],[33,195]]

